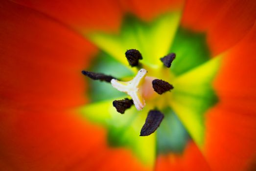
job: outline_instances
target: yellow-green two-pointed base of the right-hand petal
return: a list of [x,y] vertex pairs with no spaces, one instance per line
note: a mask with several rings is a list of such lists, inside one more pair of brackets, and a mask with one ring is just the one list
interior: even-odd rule
[[220,62],[221,57],[216,57],[182,74],[173,82],[169,103],[199,147],[204,142],[204,114],[217,100],[212,81]]

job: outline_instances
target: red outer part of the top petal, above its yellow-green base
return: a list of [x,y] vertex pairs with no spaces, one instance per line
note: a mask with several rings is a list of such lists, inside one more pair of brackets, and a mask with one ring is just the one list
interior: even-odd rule
[[169,10],[182,9],[184,0],[14,0],[85,33],[116,31],[124,12],[149,21]]

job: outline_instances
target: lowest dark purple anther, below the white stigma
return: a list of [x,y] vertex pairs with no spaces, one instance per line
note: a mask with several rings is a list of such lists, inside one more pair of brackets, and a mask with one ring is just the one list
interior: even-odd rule
[[140,136],[148,136],[155,132],[155,130],[157,130],[157,128],[160,126],[163,117],[163,113],[161,113],[159,110],[150,110],[148,112],[145,124],[140,130]]

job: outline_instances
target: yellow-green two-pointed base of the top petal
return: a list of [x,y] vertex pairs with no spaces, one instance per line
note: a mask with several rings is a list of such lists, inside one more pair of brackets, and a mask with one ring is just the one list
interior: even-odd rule
[[86,37],[127,67],[125,51],[138,49],[143,56],[141,63],[156,68],[162,66],[159,59],[168,53],[180,17],[181,11],[176,11],[145,23],[129,16],[117,35],[97,32]]

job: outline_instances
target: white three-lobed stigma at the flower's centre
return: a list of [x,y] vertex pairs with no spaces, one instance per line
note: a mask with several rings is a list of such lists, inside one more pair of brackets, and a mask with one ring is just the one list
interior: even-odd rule
[[141,91],[139,91],[139,85],[143,82],[146,73],[146,69],[140,69],[134,79],[128,82],[121,82],[116,79],[111,80],[113,87],[131,96],[137,110],[141,110],[146,105],[145,100],[142,98]]

